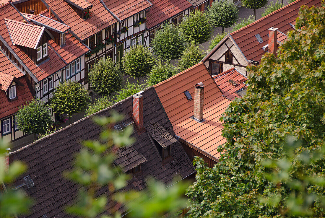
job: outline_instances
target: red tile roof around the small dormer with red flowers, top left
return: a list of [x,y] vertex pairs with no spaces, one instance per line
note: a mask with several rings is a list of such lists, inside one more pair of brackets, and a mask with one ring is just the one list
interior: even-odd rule
[[[81,40],[104,30],[117,20],[106,10],[99,0],[89,0],[93,5],[90,9],[91,17],[82,19],[70,5],[64,0],[42,0],[45,5],[50,6],[54,13],[62,20],[62,22],[71,27]],[[54,15],[48,16],[48,12],[42,13],[44,16],[53,19]],[[57,18],[58,19],[58,18]]]

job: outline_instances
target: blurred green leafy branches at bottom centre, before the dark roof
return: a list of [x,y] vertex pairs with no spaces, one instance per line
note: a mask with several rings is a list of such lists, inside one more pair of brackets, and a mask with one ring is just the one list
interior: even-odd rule
[[[117,202],[128,208],[130,217],[158,218],[167,212],[177,212],[186,207],[183,196],[188,184],[182,181],[167,187],[160,181],[148,179],[145,190],[124,192],[122,189],[119,192],[131,177],[122,173],[113,161],[118,147],[134,143],[134,139],[130,137],[133,127],[130,125],[123,128],[123,133],[111,129],[112,125],[123,120],[117,113],[112,113],[111,117],[96,117],[94,120],[107,129],[100,134],[98,141],[83,142],[84,147],[75,156],[74,168],[64,173],[69,179],[82,185],[77,202],[68,207],[67,212],[84,218],[121,217],[118,211],[110,211],[108,206]],[[97,190],[100,188],[107,189],[111,193],[109,197],[98,196]],[[107,212],[112,215],[102,214]]]

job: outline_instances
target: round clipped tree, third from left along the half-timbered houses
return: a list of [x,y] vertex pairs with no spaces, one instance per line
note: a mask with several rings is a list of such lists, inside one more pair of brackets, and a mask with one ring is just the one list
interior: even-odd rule
[[91,87],[99,95],[110,95],[121,88],[122,77],[120,69],[109,57],[98,58],[90,68],[89,79]]

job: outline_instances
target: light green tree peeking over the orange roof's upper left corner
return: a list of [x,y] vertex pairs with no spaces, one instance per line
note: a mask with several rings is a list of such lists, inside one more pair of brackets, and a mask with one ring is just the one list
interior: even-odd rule
[[155,85],[174,76],[178,72],[179,71],[169,61],[163,63],[162,60],[159,60],[157,65],[152,68],[147,79],[147,84],[148,86]]

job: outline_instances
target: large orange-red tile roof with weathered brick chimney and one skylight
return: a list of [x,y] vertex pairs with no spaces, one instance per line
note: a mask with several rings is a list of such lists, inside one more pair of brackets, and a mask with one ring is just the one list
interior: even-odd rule
[[[204,121],[199,123],[190,117],[194,114],[194,87],[202,82],[204,86]],[[154,85],[162,106],[164,107],[175,134],[201,150],[220,157],[217,147],[226,142],[222,136],[224,113],[230,100],[222,92],[207,71],[203,62]],[[187,100],[184,91],[193,97]]]

